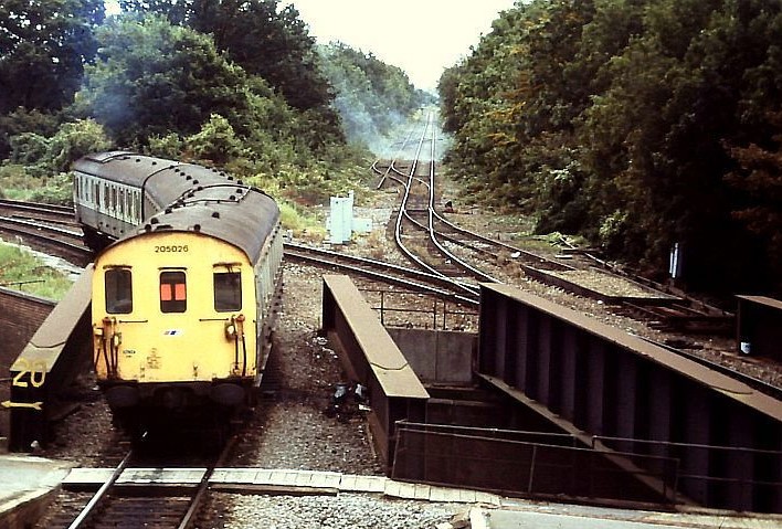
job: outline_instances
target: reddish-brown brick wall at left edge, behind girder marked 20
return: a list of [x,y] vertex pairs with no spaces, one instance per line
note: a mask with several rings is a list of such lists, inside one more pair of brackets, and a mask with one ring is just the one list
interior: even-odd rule
[[[11,395],[11,364],[54,306],[51,299],[0,287],[0,402]],[[9,413],[0,413],[0,437],[8,433]]]

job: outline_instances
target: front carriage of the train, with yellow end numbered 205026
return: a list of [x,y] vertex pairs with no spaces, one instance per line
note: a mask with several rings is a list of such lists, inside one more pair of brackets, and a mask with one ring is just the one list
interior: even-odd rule
[[95,370],[123,426],[207,426],[253,403],[282,252],[270,197],[201,181],[96,257]]

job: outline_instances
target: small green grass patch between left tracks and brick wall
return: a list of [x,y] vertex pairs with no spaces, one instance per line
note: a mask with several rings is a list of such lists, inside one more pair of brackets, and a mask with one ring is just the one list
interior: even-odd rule
[[73,282],[24,250],[0,242],[0,286],[60,300]]

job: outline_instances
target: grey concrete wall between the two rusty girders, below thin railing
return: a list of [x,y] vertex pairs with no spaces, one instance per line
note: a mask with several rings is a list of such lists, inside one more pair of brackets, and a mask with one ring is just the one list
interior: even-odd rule
[[421,381],[441,384],[473,381],[477,334],[395,327],[387,330]]

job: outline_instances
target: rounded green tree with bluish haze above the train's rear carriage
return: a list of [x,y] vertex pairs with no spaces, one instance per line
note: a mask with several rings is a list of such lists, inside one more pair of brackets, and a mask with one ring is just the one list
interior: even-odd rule
[[119,145],[193,134],[211,114],[241,131],[247,76],[209,36],[154,15],[114,18],[97,34],[101,53],[75,109],[95,117]]

